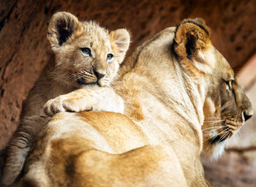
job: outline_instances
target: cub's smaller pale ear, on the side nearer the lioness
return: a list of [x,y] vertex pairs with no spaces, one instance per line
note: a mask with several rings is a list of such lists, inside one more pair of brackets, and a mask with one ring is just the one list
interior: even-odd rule
[[127,29],[121,28],[110,32],[111,47],[119,64],[124,60],[129,48],[130,34]]

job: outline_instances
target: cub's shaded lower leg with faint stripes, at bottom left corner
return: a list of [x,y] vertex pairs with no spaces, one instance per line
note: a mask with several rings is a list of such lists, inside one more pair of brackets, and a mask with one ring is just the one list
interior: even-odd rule
[[23,118],[7,149],[1,183],[10,186],[17,179],[37,132],[50,118],[33,115]]

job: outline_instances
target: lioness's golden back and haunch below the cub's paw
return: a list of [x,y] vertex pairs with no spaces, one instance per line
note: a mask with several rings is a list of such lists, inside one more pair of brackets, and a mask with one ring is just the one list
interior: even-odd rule
[[[143,131],[119,113],[60,112],[31,152],[20,186],[167,186],[173,171],[181,175],[177,186],[187,186],[173,150],[147,145]],[[163,175],[153,178],[157,173]]]

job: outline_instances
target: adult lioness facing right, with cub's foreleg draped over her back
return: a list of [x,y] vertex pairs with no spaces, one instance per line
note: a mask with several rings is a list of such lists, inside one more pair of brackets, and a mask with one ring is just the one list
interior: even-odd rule
[[[203,20],[183,20],[138,47],[113,88],[49,101],[45,112],[59,113],[37,136],[18,186],[211,186],[202,149],[225,142],[252,115],[252,105],[209,37]],[[98,110],[116,104],[109,97],[115,94],[124,115],[61,112]],[[205,118],[223,119],[229,135],[214,129],[203,137]]]

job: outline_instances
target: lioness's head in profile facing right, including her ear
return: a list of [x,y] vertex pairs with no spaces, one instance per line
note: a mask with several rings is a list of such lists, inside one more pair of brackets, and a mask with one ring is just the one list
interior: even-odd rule
[[[230,64],[211,45],[209,37],[204,20],[183,20],[176,28],[173,49],[187,77],[191,77],[188,80],[197,83],[203,106],[203,153],[217,158],[229,138],[252,116],[253,110]],[[195,93],[190,97],[197,98]]]

